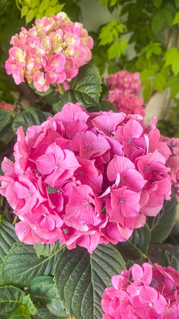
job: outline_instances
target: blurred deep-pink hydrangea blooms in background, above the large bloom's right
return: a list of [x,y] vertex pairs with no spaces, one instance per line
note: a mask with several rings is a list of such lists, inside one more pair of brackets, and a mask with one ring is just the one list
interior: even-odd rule
[[138,72],[118,71],[111,74],[106,82],[109,90],[107,101],[111,102],[118,112],[145,116],[143,99],[137,96],[141,90]]

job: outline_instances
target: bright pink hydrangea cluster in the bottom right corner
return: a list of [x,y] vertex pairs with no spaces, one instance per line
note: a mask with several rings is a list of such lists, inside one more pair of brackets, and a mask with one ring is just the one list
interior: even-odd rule
[[179,273],[154,263],[134,264],[112,277],[104,290],[103,319],[177,319]]

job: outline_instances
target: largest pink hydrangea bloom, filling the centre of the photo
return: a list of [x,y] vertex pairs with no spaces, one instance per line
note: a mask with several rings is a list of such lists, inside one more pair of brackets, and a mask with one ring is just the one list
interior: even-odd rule
[[68,102],[26,136],[19,127],[15,163],[5,157],[0,176],[0,194],[20,219],[19,240],[60,239],[90,253],[127,241],[170,199],[170,150],[156,122],[148,129],[139,115],[88,113]]

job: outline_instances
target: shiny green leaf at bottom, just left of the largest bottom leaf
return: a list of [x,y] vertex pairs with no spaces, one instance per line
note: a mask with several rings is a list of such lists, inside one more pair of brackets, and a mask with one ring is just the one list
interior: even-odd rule
[[50,276],[40,276],[34,278],[30,284],[29,289],[31,294],[43,305],[47,307],[50,312],[58,316],[67,316],[62,302],[56,295],[56,289],[54,289],[53,278]]

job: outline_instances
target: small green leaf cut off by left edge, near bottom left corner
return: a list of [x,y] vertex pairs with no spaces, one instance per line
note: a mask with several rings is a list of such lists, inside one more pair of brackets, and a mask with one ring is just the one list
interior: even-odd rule
[[0,314],[3,315],[18,307],[21,304],[20,298],[24,295],[24,292],[17,287],[0,287]]

